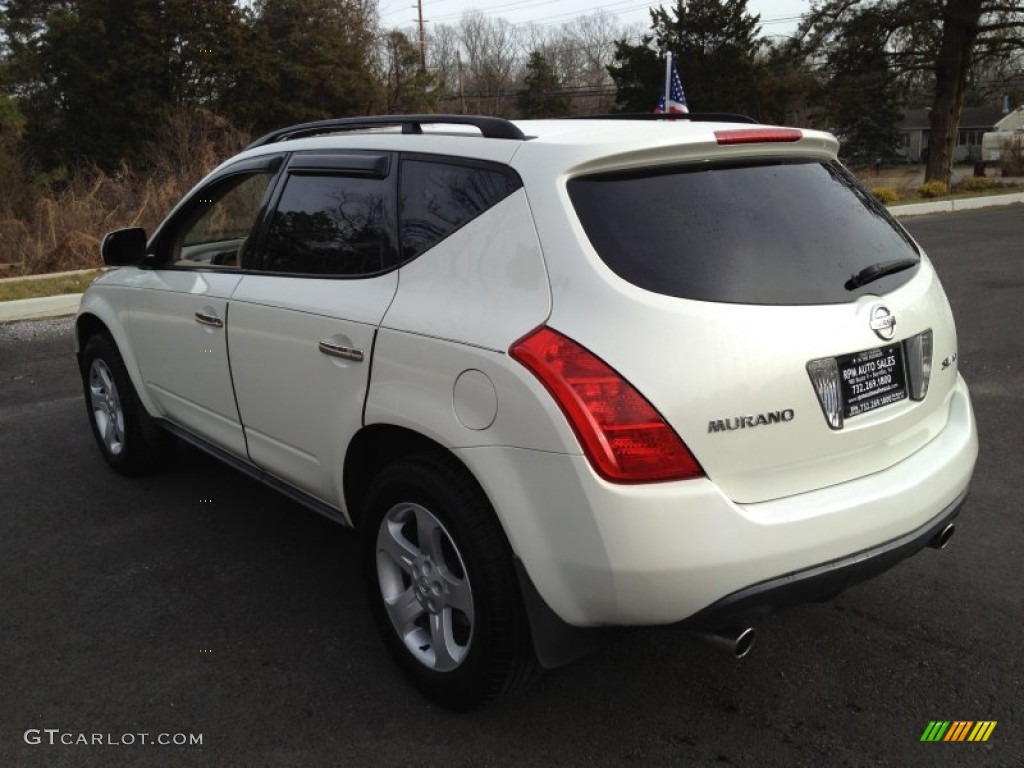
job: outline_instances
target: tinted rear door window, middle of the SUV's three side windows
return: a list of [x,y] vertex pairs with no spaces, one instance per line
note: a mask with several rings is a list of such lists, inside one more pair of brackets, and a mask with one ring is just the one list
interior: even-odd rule
[[270,218],[262,268],[358,276],[393,267],[389,189],[387,179],[291,174]]

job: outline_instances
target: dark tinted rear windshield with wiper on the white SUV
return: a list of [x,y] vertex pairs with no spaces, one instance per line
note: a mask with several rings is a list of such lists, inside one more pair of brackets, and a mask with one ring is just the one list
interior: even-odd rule
[[[835,304],[903,285],[916,264],[867,285],[913,242],[839,163],[677,166],[569,180],[601,259],[635,286],[684,299]],[[903,264],[906,267],[906,264]]]

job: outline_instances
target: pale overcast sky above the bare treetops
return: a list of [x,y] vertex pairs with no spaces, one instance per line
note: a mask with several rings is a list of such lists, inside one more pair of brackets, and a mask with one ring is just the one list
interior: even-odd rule
[[[431,24],[457,24],[466,10],[479,10],[487,16],[506,18],[513,24],[535,24],[560,27],[580,15],[601,9],[618,17],[622,24],[650,25],[648,8],[642,0],[422,0],[427,35]],[[675,3],[668,0],[667,9]],[[800,14],[810,6],[809,0],[748,0],[751,13],[761,14],[761,34],[790,35],[800,22]],[[416,0],[380,0],[381,23],[387,28],[407,29],[416,23]]]

